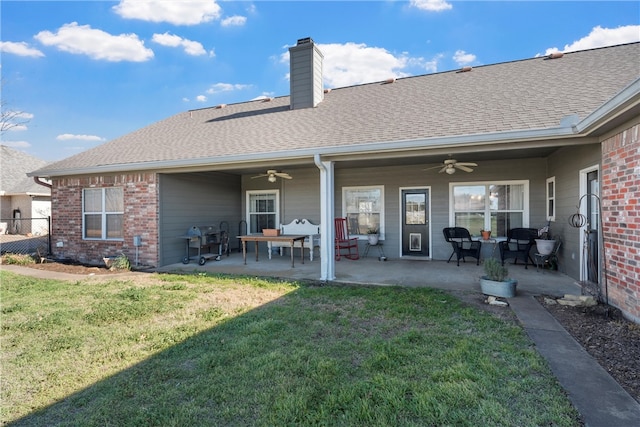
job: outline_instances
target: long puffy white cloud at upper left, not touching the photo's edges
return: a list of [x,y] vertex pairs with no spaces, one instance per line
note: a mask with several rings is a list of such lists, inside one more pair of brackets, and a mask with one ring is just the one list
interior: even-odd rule
[[77,22],[63,25],[57,33],[41,31],[35,38],[46,46],[92,59],[143,62],[153,58],[153,51],[145,48],[144,42],[135,34],[114,36]]

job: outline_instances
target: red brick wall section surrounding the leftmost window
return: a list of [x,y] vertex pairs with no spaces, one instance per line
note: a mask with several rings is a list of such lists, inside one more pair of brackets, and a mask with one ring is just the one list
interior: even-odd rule
[[[83,240],[82,190],[104,187],[124,189],[124,240]],[[142,245],[138,248],[138,264],[157,266],[159,259],[157,187],[157,175],[153,173],[53,179],[51,242],[54,257],[98,265],[103,264],[102,258],[105,256],[124,253],[131,264],[135,265],[136,247],[133,245],[133,237],[141,236]]]

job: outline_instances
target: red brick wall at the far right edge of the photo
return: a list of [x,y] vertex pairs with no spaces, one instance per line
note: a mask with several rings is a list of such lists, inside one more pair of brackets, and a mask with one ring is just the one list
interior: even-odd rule
[[602,196],[609,302],[640,322],[640,125],[603,142]]

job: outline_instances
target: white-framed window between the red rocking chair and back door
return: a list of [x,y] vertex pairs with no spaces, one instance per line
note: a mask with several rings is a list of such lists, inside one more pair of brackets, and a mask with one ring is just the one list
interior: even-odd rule
[[378,229],[384,235],[384,187],[344,187],[342,213],[350,234],[365,235],[370,229]]

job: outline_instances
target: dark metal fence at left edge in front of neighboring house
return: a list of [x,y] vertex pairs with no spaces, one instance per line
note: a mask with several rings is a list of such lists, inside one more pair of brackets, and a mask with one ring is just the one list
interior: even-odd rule
[[0,253],[51,253],[51,218],[0,218]]

